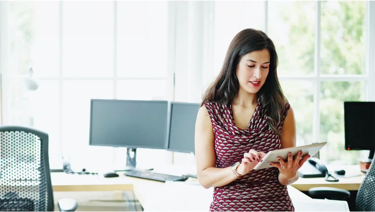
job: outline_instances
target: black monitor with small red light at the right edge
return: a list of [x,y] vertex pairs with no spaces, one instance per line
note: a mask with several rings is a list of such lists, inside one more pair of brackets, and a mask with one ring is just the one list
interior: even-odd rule
[[345,149],[375,150],[375,102],[344,102]]

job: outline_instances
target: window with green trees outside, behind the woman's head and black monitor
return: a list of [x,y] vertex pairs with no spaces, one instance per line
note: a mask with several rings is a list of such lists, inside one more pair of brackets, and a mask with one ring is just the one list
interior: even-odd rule
[[[323,160],[356,164],[361,152],[344,149],[343,102],[374,100],[369,99],[368,87],[375,79],[368,77],[373,75],[365,68],[366,57],[374,57],[366,55],[368,5],[360,1],[216,2],[214,73],[220,71],[236,33],[245,28],[264,30],[279,56],[278,75],[296,116],[297,145],[327,142],[321,150]],[[245,13],[239,8],[249,9],[258,18],[242,17]],[[233,16],[227,15],[232,9]],[[227,22],[232,25],[226,26]]]

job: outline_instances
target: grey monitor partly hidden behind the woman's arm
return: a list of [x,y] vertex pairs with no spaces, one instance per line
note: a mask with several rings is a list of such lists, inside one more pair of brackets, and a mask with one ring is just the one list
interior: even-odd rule
[[198,103],[171,102],[167,150],[175,152],[195,152],[195,120]]

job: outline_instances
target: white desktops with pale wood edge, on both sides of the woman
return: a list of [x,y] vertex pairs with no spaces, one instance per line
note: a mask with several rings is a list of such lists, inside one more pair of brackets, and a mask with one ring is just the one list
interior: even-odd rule
[[[154,171],[178,175],[191,172],[193,169],[191,167],[169,165],[155,168]],[[118,174],[120,175],[119,177],[105,178],[102,174],[51,173],[51,179],[54,191],[134,191],[146,211],[207,211],[212,201],[213,188],[203,188],[198,185],[198,180],[194,178],[189,178],[185,182],[163,183],[127,177],[121,172]],[[307,187],[320,186],[322,180],[324,178],[300,178],[295,184],[288,186],[288,192],[296,211],[321,211],[322,209],[324,211],[349,211],[346,201],[316,200],[296,189],[299,187],[306,189]],[[359,179],[354,177],[350,181],[353,180],[357,182]],[[354,182],[340,181],[344,185]],[[340,182],[330,182],[329,185],[342,184]],[[354,187],[356,186],[358,185],[355,184]]]

